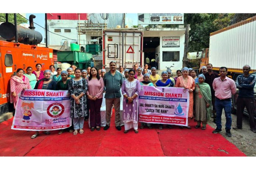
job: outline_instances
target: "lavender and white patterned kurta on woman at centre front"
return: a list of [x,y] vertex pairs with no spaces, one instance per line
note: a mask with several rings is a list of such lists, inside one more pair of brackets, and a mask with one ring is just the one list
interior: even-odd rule
[[123,122],[138,123],[138,106],[139,106],[139,93],[141,92],[141,84],[138,80],[129,82],[128,79],[124,80],[122,84],[122,94],[133,96],[135,93],[138,95],[132,100],[132,103],[126,103],[126,98],[123,100]]

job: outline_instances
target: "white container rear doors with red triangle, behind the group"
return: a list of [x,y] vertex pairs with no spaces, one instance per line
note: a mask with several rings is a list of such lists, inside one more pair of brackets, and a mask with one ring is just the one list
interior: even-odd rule
[[143,66],[143,32],[140,30],[113,29],[103,31],[103,68],[109,70],[111,61],[131,69],[134,64]]

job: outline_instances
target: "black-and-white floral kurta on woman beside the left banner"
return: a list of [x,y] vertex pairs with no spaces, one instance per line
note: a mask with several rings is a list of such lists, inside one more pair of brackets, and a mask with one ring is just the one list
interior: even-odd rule
[[68,92],[70,95],[74,94],[79,96],[81,93],[84,95],[80,98],[80,104],[76,104],[75,100],[71,97],[70,99],[70,117],[71,118],[81,118],[86,117],[87,113],[87,104],[86,104],[86,92],[88,90],[88,83],[84,78],[81,78],[79,81],[70,79],[68,82]]

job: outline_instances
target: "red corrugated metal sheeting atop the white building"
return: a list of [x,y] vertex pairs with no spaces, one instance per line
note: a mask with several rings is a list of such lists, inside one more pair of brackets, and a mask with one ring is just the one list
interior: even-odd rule
[[[68,20],[78,20],[78,14],[76,13],[49,13],[47,14],[47,19],[68,19]],[[80,20],[87,20],[87,14],[81,13]]]

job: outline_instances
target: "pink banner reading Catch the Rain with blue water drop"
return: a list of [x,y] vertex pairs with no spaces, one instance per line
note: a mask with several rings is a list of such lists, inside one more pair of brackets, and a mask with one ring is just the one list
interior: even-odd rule
[[139,122],[188,126],[188,108],[184,88],[141,86]]

